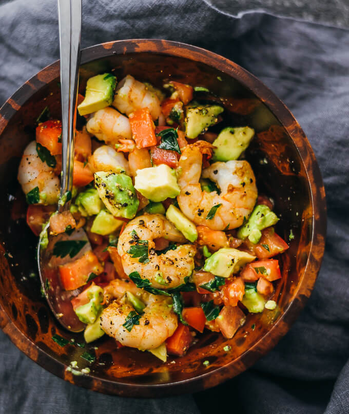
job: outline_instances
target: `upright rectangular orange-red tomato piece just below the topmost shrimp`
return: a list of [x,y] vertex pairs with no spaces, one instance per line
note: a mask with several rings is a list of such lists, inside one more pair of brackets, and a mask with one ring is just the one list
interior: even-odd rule
[[137,148],[151,147],[157,144],[155,126],[148,108],[138,109],[129,115],[132,138]]

